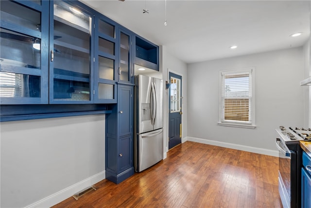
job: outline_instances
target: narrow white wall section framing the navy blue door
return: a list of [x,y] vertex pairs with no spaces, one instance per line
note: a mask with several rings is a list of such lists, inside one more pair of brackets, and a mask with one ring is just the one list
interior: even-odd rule
[[[188,125],[188,107],[187,107],[187,88],[188,88],[188,77],[187,77],[187,64],[183,61],[179,60],[178,58],[174,57],[170,54],[165,46],[162,46],[162,72],[163,72],[163,83],[166,81],[169,82],[169,73],[173,72],[175,74],[181,75],[182,79],[182,96],[185,98],[182,103],[182,141],[188,135],[187,132],[187,125]],[[168,91],[164,90],[163,93],[163,135],[164,135],[164,151],[168,151]]]

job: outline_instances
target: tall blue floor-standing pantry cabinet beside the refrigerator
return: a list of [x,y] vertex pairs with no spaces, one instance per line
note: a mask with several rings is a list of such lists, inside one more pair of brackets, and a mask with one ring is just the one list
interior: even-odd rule
[[106,179],[116,184],[134,174],[133,88],[118,84],[118,104],[106,116]]

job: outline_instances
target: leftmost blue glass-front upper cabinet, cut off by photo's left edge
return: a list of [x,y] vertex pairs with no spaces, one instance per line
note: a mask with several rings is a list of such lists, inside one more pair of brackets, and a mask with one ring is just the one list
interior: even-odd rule
[[0,103],[48,103],[49,1],[0,1]]

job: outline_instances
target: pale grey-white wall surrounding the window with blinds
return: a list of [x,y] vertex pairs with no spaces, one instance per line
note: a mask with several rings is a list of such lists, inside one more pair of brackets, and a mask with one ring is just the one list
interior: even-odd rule
[[[219,71],[255,67],[256,129],[218,126]],[[276,151],[275,129],[303,126],[302,47],[188,65],[188,136]]]

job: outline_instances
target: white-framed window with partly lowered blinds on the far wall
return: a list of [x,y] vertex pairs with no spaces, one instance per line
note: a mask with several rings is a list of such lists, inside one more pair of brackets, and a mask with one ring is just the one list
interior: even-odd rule
[[255,128],[255,70],[220,71],[219,125]]

